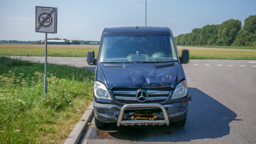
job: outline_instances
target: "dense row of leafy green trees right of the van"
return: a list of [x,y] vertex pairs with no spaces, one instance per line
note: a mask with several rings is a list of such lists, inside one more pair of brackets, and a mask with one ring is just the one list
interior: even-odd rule
[[254,46],[256,47],[256,15],[244,20],[229,19],[222,24],[194,28],[191,33],[175,38],[177,45],[198,46]]

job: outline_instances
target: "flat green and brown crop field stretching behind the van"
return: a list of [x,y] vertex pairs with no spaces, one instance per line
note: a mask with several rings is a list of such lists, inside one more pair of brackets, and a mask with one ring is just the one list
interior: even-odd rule
[[[56,57],[87,57],[88,51],[98,54],[99,45],[48,45],[47,56]],[[256,60],[256,49],[254,47],[191,47],[178,46],[188,49],[191,59],[236,59]],[[1,44],[1,56],[44,56],[44,45],[33,44]]]

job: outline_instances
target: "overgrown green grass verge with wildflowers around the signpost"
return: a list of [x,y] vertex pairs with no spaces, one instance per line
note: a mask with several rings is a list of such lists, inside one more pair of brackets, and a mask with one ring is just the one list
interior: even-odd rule
[[94,72],[0,57],[0,143],[63,143],[92,100]]

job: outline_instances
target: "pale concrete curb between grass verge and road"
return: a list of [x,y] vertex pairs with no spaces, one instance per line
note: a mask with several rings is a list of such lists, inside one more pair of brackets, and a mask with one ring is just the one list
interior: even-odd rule
[[[78,143],[78,141],[79,141],[80,137],[82,136],[82,134],[87,126],[87,123],[91,119],[92,115],[93,115],[93,104],[91,102],[91,104],[88,106],[87,110],[82,115],[81,119],[78,121],[78,123],[76,124],[74,129],[69,134],[69,136],[66,139],[64,144],[77,144]],[[82,119],[84,119],[84,121],[81,121]]]

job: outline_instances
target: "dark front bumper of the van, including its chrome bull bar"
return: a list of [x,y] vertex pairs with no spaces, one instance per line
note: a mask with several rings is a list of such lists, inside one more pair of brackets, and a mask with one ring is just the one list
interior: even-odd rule
[[[127,105],[117,105],[117,104],[105,104],[97,103],[93,99],[93,107],[95,117],[105,123],[117,122],[117,126],[120,125],[155,125],[155,124],[166,124],[169,122],[176,122],[182,120],[186,117],[189,101],[191,96],[184,98],[183,100],[177,100],[174,103],[169,104],[127,104]],[[154,112],[157,116],[155,120],[129,120],[125,115],[125,110],[152,110],[161,109],[158,112]],[[168,124],[167,124],[168,123]]]

